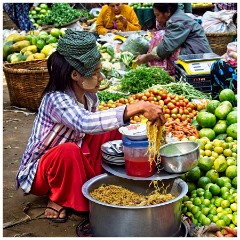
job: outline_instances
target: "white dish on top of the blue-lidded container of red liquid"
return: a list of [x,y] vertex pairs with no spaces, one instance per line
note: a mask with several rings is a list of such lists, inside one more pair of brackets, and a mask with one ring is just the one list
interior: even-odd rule
[[142,123],[120,127],[119,132],[131,140],[147,139],[147,125]]

